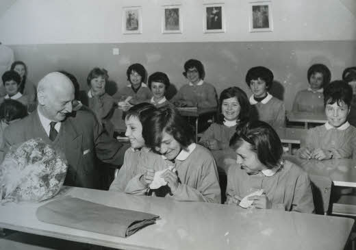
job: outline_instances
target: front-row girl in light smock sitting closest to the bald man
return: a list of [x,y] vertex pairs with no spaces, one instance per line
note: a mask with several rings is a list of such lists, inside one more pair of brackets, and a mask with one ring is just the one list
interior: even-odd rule
[[[125,192],[129,180],[136,175],[146,172],[145,166],[154,164],[156,158],[160,160],[160,155],[152,153],[145,147],[142,137],[142,123],[147,120],[156,108],[151,103],[140,103],[131,107],[125,117],[126,132],[130,140],[131,147],[127,149],[124,156],[124,163],[118,171],[117,177],[112,182],[109,190]],[[151,155],[149,157],[149,155]]]

